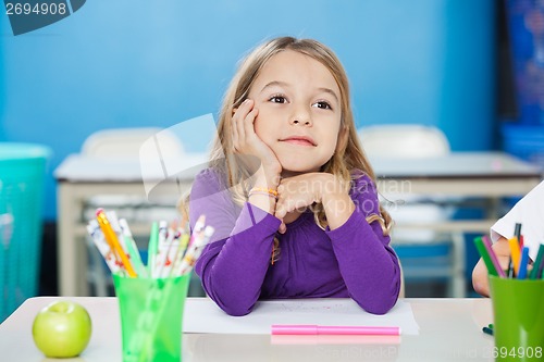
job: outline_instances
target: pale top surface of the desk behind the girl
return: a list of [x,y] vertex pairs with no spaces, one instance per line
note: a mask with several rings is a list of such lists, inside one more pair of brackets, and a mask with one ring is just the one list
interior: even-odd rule
[[[425,159],[371,160],[380,178],[527,178],[542,176],[542,170],[504,152],[453,152]],[[128,183],[166,177],[191,178],[207,166],[205,153],[140,162],[137,159],[100,159],[69,155],[54,171],[60,182]]]

